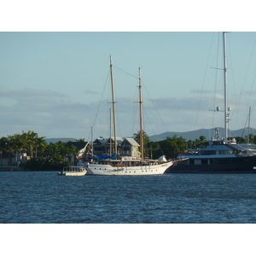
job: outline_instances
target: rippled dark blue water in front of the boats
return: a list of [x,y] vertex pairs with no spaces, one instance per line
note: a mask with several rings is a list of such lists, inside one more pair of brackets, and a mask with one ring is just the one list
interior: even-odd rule
[[0,172],[0,223],[252,224],[255,174]]

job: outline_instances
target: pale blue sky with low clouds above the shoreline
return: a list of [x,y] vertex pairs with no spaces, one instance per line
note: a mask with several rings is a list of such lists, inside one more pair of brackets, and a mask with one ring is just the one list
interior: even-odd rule
[[[154,26],[149,26],[152,31],[148,26],[144,30],[139,26],[137,31],[133,25],[126,31],[113,26],[104,32],[102,24],[90,30],[78,26],[79,31],[74,24],[72,30],[56,22],[52,27],[40,23],[38,29],[32,22],[25,30],[20,30],[19,23],[2,29],[0,137],[22,131],[46,138],[113,136],[109,128],[113,119],[109,114],[110,55],[118,137],[139,131],[139,67],[143,128],[148,136],[223,127],[224,113],[209,111],[224,108],[222,32],[215,30],[223,27],[191,31],[191,27],[174,30],[171,26],[165,31],[166,25],[160,22],[152,22],[158,24],[158,31]],[[232,31],[227,34],[230,129],[247,124],[250,106],[250,124],[255,128],[256,32],[228,28]]]

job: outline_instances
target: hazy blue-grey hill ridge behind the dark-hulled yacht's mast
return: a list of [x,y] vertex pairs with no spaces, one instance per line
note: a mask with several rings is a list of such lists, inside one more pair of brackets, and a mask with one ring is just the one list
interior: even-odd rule
[[[224,128],[219,128],[218,130],[219,135],[221,137],[224,137]],[[254,128],[250,128],[250,133],[252,133],[253,135],[256,134],[256,129]],[[154,135],[154,136],[149,136],[149,139],[152,142],[159,142],[159,141],[163,141],[166,140],[166,137],[173,137],[175,135],[177,135],[177,137],[183,137],[184,139],[186,139],[186,141],[189,140],[195,140],[196,138],[199,138],[200,136],[205,136],[207,137],[207,140],[210,140],[211,137],[214,137],[215,131],[214,129],[200,129],[200,130],[196,130],[196,131],[185,131],[185,132],[179,132],[179,131],[168,131],[168,132],[164,132],[161,133],[159,135]],[[230,137],[245,137],[248,134],[248,128],[246,129],[239,129],[236,131],[230,131]]]

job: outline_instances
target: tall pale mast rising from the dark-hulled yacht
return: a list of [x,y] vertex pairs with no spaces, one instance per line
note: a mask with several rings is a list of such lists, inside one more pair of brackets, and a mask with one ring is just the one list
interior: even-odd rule
[[228,108],[228,92],[227,92],[227,47],[226,47],[226,32],[223,32],[223,49],[224,49],[224,130],[225,137],[227,140],[228,136],[228,123],[230,122],[230,113]]

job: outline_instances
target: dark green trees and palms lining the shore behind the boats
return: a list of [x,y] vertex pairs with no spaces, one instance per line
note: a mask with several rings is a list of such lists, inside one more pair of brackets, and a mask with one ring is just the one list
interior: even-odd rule
[[[78,148],[74,145],[67,147],[67,143],[46,143],[45,137],[38,137],[34,131],[22,131],[21,134],[8,135],[0,138],[0,153],[3,150],[15,155],[15,161],[18,162],[20,153],[26,153],[28,161],[22,163],[25,169],[42,170],[61,170],[63,166],[71,166],[73,162],[67,161],[67,155],[75,155]],[[140,133],[135,134],[135,140],[140,143]],[[84,141],[84,139],[79,139]],[[183,137],[166,137],[166,140],[160,142],[150,141],[147,133],[143,131],[144,156],[150,159],[157,159],[162,154],[166,159],[174,159],[181,151],[188,148],[206,148],[209,145],[204,136],[199,139],[186,141]],[[248,137],[236,137],[237,143],[256,143],[256,136],[250,134]],[[42,156],[44,154],[44,156]],[[39,156],[39,157],[38,157]],[[54,169],[53,169],[54,168]]]

